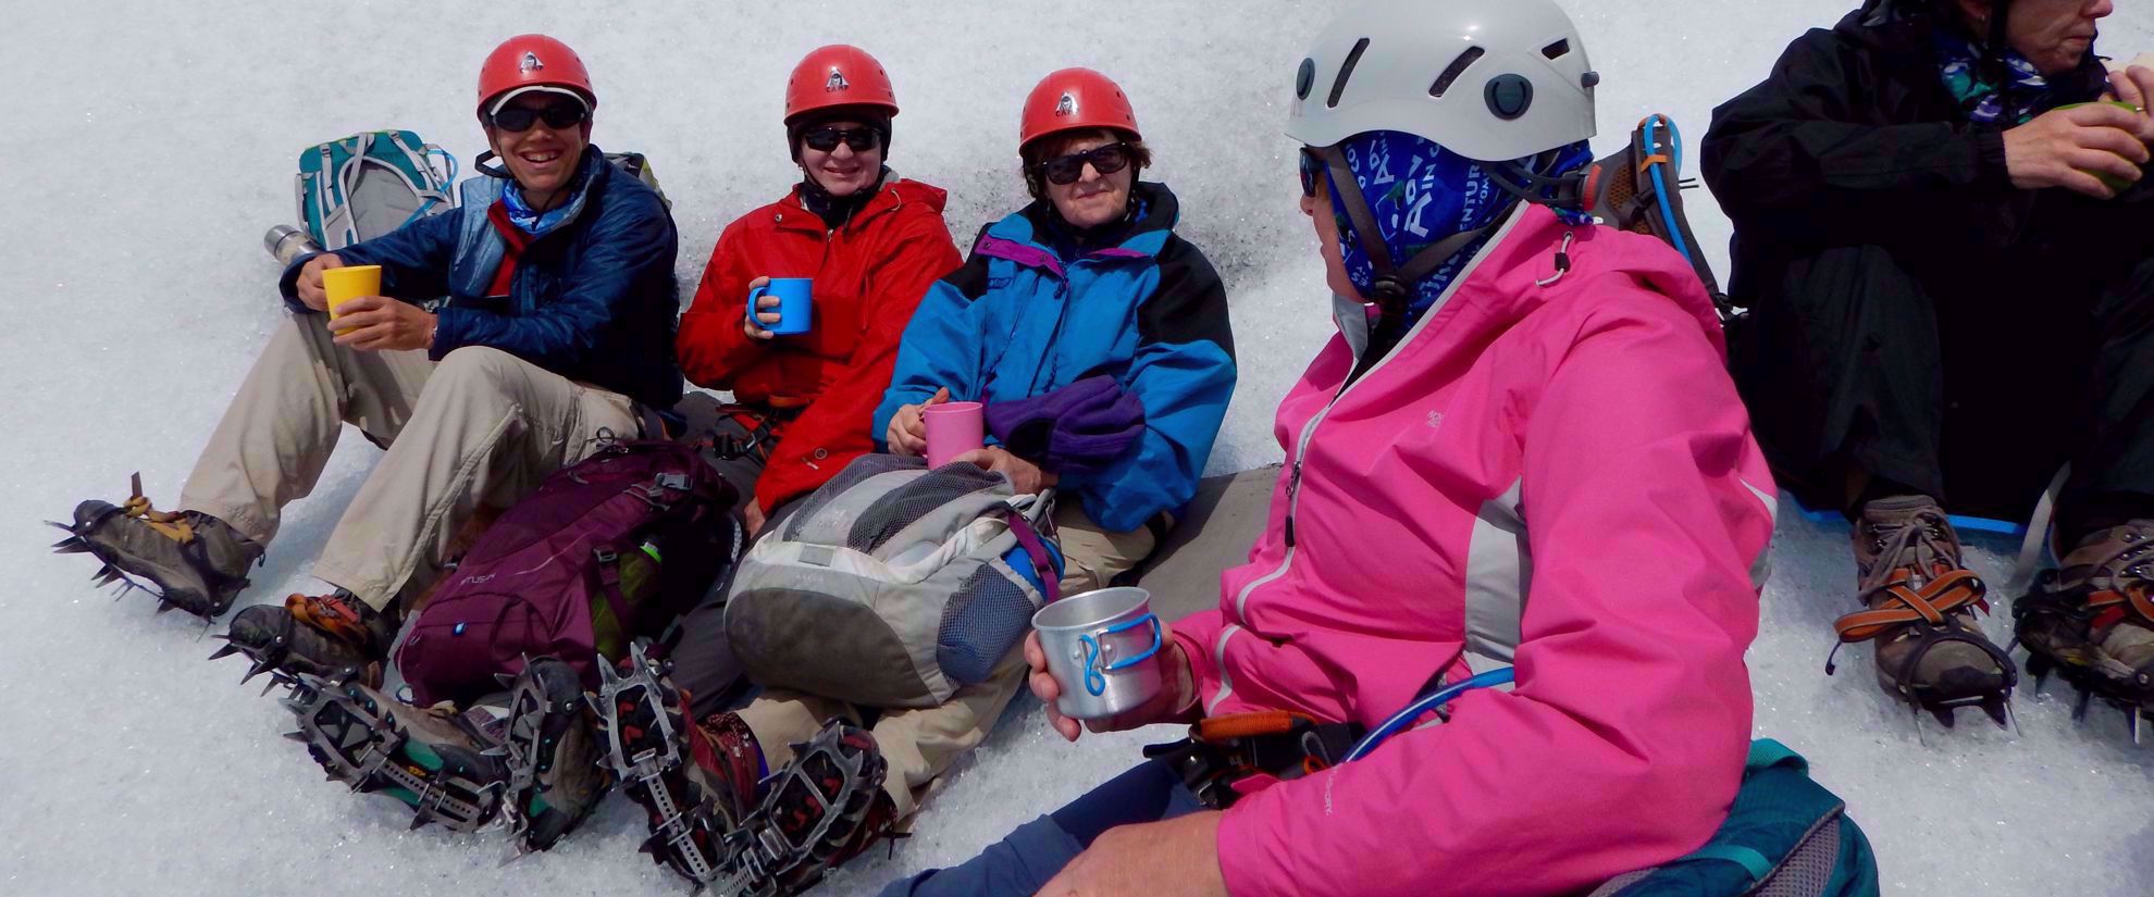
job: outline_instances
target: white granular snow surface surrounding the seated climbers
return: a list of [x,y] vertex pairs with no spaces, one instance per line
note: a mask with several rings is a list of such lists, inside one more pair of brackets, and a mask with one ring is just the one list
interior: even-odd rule
[[[1665,110],[1695,151],[1710,108],[1760,80],[1801,28],[1852,0],[1568,0],[1585,30],[1611,151]],[[1310,232],[1295,211],[1288,84],[1331,2],[935,4],[0,4],[0,893],[90,895],[681,895],[635,854],[642,817],[614,798],[551,854],[495,871],[498,835],[405,830],[383,798],[321,781],[278,738],[289,716],[209,665],[183,613],[106,600],[82,557],[52,557],[86,497],[125,495],[140,469],[172,501],[211,424],[284,312],[261,232],[293,217],[295,151],[373,127],[411,127],[465,161],[478,58],[545,30],[590,62],[597,142],[651,155],[676,202],[689,288],[730,217],[791,181],[782,77],[806,49],[849,41],[896,75],[894,163],[952,191],[971,234],[1021,200],[1017,105],[1049,69],[1090,65],[1135,97],[1183,196],[1183,232],[1226,275],[1243,379],[1215,471],[1277,458],[1271,409],[1327,336]],[[747,6],[747,9],[735,9]],[[2126,4],[2102,47],[2154,49],[2154,13]],[[1728,224],[1691,200],[1725,265]],[[1721,269],[1725,273],[1725,267]],[[308,585],[338,508],[375,452],[351,439],[319,497],[299,501],[243,600]],[[1870,682],[1868,650],[1820,675],[1829,622],[1852,587],[1840,529],[1786,514],[1764,630],[1751,652],[1758,734],[1809,755],[1906,895],[2143,895],[2154,880],[2154,746],[2117,714],[2070,725],[2070,701],[2023,693],[2020,734],[1969,718],[1917,734]],[[1977,553],[2001,583],[2003,564]],[[2008,626],[1990,617],[1990,635]],[[220,626],[222,630],[222,626]],[[1047,734],[1021,699],[950,777],[918,837],[875,852],[821,893],[870,893],[898,873],[974,854],[1137,759],[1170,729]],[[1924,744],[1924,738],[1928,744]]]

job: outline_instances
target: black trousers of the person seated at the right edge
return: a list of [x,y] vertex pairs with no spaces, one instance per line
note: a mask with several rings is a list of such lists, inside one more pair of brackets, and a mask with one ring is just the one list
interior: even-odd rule
[[2064,544],[2154,516],[2154,258],[2107,262],[1924,269],[1876,245],[1794,258],[1781,290],[1730,325],[1775,475],[1812,508],[1852,510],[1850,482],[1868,475],[1952,512],[2027,518],[2072,462]]

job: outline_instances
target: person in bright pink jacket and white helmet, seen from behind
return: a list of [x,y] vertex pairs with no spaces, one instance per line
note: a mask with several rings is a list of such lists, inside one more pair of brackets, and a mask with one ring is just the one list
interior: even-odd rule
[[1279,402],[1249,564],[1174,624],[1165,693],[1094,727],[1327,736],[1475,671],[1516,686],[1230,787],[1155,759],[887,893],[1553,895],[1712,835],[1775,490],[1691,267],[1575,211],[1596,80],[1551,0],[1374,0],[1323,32],[1288,133],[1342,333]]

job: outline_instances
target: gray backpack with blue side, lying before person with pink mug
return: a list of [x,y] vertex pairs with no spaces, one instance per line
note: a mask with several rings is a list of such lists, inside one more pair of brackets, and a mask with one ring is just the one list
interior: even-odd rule
[[971,465],[853,460],[741,557],[726,637],[747,678],[870,708],[987,682],[1055,598],[1049,501]]

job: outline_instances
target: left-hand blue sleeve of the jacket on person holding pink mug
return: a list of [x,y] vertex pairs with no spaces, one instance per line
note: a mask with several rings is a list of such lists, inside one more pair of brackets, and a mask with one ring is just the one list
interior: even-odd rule
[[890,452],[883,435],[890,432],[890,419],[898,409],[926,402],[935,389],[948,387],[950,398],[961,402],[980,398],[980,333],[987,303],[976,299],[987,288],[987,256],[974,252],[920,299],[920,310],[898,342],[890,389],[875,409],[870,435],[877,452]]

